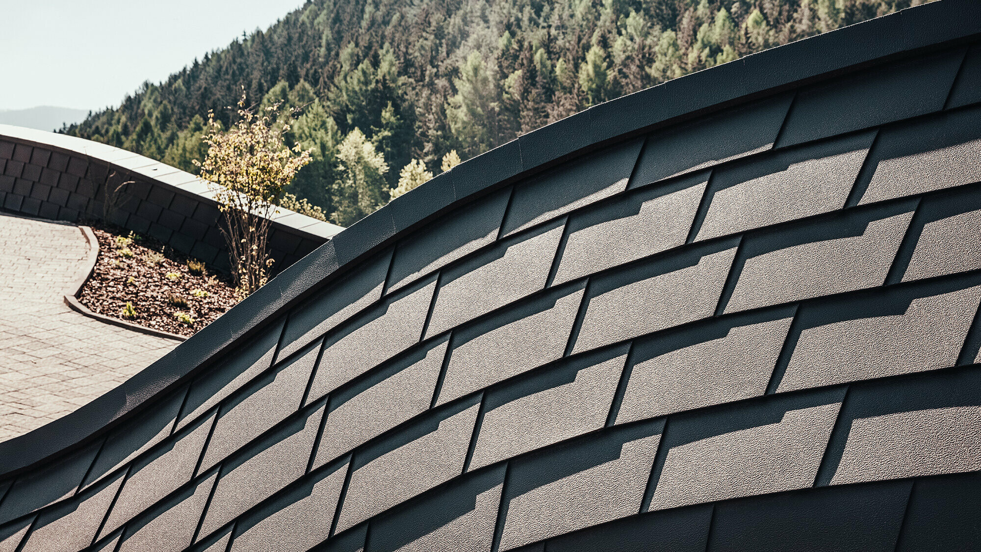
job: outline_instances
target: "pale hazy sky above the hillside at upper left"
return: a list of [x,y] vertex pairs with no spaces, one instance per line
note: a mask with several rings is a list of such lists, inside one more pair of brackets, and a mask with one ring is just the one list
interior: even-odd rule
[[0,110],[119,105],[303,0],[0,0]]

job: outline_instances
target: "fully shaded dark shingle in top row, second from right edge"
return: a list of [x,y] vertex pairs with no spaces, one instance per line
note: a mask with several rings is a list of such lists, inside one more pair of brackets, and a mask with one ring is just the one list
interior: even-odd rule
[[[965,48],[917,56],[798,92],[777,145],[842,135],[944,109]],[[903,93],[897,93],[902,89]]]

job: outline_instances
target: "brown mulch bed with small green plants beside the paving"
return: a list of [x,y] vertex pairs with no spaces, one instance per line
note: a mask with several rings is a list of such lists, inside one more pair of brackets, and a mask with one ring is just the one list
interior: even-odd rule
[[[211,267],[194,274],[187,262],[195,259],[173,248],[105,224],[93,225],[92,232],[99,241],[99,258],[78,301],[99,314],[190,336],[238,303],[228,275]],[[122,314],[127,302],[135,310],[131,318]],[[190,320],[181,321],[178,313]]]

